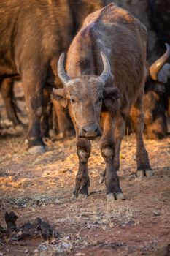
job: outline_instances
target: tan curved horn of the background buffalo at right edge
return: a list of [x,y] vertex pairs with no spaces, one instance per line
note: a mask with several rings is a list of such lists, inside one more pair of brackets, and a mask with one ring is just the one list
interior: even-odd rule
[[152,80],[158,80],[158,72],[161,70],[163,65],[166,63],[170,56],[170,45],[166,44],[166,52],[150,66],[150,76]]

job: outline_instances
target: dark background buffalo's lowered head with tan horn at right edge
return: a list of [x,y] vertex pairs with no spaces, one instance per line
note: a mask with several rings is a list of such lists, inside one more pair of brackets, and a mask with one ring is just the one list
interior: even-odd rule
[[144,134],[150,139],[161,139],[167,135],[166,105],[169,98],[166,83],[170,78],[170,45],[166,52],[148,68],[144,94]]

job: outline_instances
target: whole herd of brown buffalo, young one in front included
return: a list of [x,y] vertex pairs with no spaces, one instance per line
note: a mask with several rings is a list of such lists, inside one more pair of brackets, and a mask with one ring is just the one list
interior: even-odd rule
[[152,21],[142,20],[141,1],[131,1],[134,9],[129,2],[1,0],[0,91],[7,116],[15,126],[21,124],[13,87],[22,80],[28,151],[36,154],[46,150],[43,137],[50,129],[52,108],[63,136],[73,129],[70,114],[79,157],[73,197],[88,195],[90,140],[101,136],[106,162],[101,182],[107,199],[123,199],[117,170],[125,123],[136,135],[137,176],[152,176],[143,128],[147,138],[168,134],[170,32],[163,37],[168,16],[160,20],[161,1],[145,0],[141,12],[147,7]]

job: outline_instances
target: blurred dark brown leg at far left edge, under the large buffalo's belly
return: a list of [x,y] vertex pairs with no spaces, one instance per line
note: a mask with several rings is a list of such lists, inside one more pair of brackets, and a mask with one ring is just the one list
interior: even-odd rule
[[5,78],[0,85],[1,96],[4,99],[4,105],[7,110],[7,117],[16,126],[22,124],[19,120],[13,98],[13,80],[11,78]]

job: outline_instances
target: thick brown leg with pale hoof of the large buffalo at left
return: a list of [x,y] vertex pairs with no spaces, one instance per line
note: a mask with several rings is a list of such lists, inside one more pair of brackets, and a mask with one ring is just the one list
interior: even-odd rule
[[[40,70],[40,69],[39,69]],[[43,70],[44,71],[44,70]],[[28,151],[31,154],[45,152],[40,119],[43,113],[43,86],[45,83],[45,72],[29,72],[22,74],[23,89],[28,108]]]

